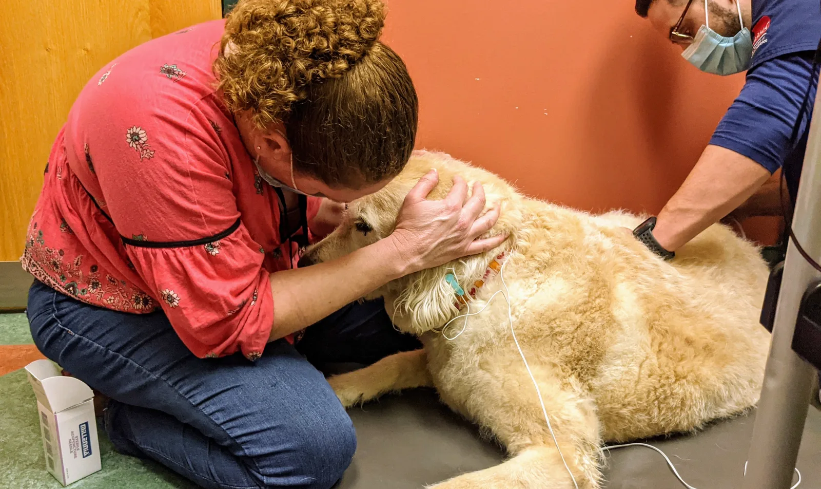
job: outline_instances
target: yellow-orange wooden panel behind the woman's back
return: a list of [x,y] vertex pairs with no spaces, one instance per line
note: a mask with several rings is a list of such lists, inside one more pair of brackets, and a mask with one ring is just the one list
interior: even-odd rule
[[0,0],[0,261],[17,260],[54,137],[106,62],[219,18],[219,0]]

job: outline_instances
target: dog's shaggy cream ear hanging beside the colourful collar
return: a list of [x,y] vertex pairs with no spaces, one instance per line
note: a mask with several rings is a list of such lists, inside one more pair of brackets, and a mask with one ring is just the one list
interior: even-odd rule
[[471,277],[477,277],[484,271],[484,259],[484,255],[470,256],[405,277],[406,287],[393,303],[395,313],[407,320],[402,329],[410,328],[409,333],[422,334],[435,330],[456,316],[459,312],[456,309],[456,290],[446,276],[453,274],[467,294],[472,285]]

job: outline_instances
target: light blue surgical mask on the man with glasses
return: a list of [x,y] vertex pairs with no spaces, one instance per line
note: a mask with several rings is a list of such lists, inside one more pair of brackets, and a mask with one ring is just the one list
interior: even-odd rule
[[701,26],[693,43],[681,53],[681,56],[702,72],[713,75],[725,76],[745,71],[753,57],[753,36],[750,35],[750,30],[744,27],[739,0],[736,0],[736,7],[741,30],[732,37],[724,37],[710,29],[709,8],[707,0],[704,0],[706,25]]

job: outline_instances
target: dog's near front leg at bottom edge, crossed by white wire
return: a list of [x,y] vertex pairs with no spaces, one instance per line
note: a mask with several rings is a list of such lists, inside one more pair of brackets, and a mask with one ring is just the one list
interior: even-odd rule
[[574,379],[562,381],[552,367],[532,367],[556,442],[525,369],[488,360],[483,371],[471,377],[470,400],[461,409],[493,431],[512,458],[435,489],[575,489],[568,469],[579,489],[599,487],[599,417],[593,399]]

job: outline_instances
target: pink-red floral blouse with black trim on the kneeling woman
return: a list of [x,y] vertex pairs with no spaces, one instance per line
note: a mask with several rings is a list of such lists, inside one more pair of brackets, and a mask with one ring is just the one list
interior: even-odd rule
[[319,199],[300,197],[294,218],[256,172],[214,93],[223,27],[151,40],[85,85],[54,141],[21,261],[89,304],[162,308],[198,357],[254,360],[273,327],[268,274],[295,266]]

